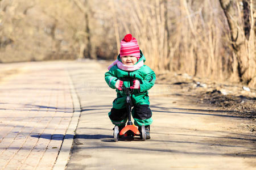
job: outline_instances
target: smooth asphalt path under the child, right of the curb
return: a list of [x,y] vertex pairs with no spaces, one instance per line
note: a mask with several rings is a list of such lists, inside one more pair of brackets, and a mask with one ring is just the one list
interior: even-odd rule
[[106,67],[81,62],[69,69],[82,112],[67,169],[256,168],[255,133],[240,129],[248,120],[190,105],[158,84],[150,91],[151,139],[114,142],[108,112],[116,94],[105,83]]

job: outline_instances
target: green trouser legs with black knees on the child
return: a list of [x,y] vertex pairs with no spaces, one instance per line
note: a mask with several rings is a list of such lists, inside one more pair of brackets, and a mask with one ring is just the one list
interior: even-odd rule
[[[136,126],[147,126],[152,124],[152,112],[149,108],[150,102],[148,92],[143,94],[133,94],[131,96],[133,109],[131,115]],[[114,125],[121,126],[126,124],[128,113],[126,108],[126,95],[117,94],[113,101],[113,108],[109,112],[109,118]]]

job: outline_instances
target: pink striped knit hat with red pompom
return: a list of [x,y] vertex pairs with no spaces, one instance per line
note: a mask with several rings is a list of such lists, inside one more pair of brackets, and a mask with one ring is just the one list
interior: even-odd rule
[[129,33],[121,41],[120,57],[134,56],[138,60],[141,57],[137,40]]

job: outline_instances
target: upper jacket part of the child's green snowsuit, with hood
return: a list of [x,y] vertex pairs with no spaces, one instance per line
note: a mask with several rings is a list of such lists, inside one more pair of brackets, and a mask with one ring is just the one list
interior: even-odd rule
[[[118,55],[117,59],[121,61],[120,54]],[[141,51],[141,58],[139,58],[139,61],[142,60],[145,62],[146,58]],[[135,63],[135,65],[137,63]],[[115,83],[117,82],[117,80],[127,76],[138,79],[141,83],[139,90],[134,90],[133,94],[147,92],[155,84],[155,73],[153,70],[150,69],[150,67],[146,65],[143,65],[140,69],[135,71],[124,71],[119,69],[117,65],[114,65],[108,72],[105,73],[105,80],[106,83],[108,83],[109,87],[115,89]],[[130,87],[132,86],[132,84],[130,84],[129,81],[124,81],[123,86]],[[116,91],[121,95],[125,95],[122,91],[119,91],[118,89]]]

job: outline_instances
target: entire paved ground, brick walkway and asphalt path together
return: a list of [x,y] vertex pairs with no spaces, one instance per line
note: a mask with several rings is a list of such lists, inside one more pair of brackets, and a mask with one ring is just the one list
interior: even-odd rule
[[100,63],[1,66],[0,169],[64,169],[80,109],[67,169],[256,168],[255,133],[241,129],[248,120],[189,105],[170,87],[150,92],[150,140],[114,142],[107,113],[115,92]]

